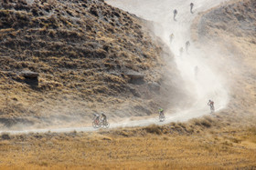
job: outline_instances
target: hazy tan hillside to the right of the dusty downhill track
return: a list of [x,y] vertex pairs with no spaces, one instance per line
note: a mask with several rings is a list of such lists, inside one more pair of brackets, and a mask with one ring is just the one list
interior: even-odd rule
[[[220,5],[202,14],[194,25],[196,29],[192,31],[195,40],[208,46],[206,53],[218,45],[217,53],[208,55],[208,60],[218,61],[219,71],[227,77],[231,101],[228,109],[231,119],[239,125],[249,125],[255,121],[255,7],[253,0]],[[227,119],[230,119],[230,115]]]

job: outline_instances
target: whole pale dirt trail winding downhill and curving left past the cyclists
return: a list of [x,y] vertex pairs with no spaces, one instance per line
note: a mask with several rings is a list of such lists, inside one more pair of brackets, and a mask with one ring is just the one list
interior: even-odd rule
[[[216,101],[216,110],[224,108],[229,102],[228,90],[225,89],[224,82],[218,73],[211,68],[214,63],[208,65],[205,62],[204,54],[197,49],[190,41],[190,25],[198,12],[206,11],[209,8],[219,5],[225,0],[199,0],[193,2],[195,4],[194,14],[190,14],[191,1],[170,1],[170,0],[106,0],[110,5],[122,8],[132,14],[138,15],[144,19],[154,21],[157,27],[160,25],[161,30],[155,30],[155,34],[170,47],[175,54],[175,62],[182,77],[186,80],[187,93],[191,98],[191,105],[184,110],[180,108],[176,113],[166,111],[166,119],[164,123],[158,121],[158,117],[147,118],[145,120],[124,120],[123,122],[112,124],[111,128],[128,127],[128,126],[144,126],[144,125],[163,125],[176,121],[187,121],[202,115],[209,114],[208,99]],[[173,10],[177,9],[176,21],[173,20]],[[173,33],[175,38],[172,43],[169,42],[169,35]],[[190,41],[188,53],[179,54],[180,47],[185,48],[187,40]],[[197,77],[195,76],[195,66],[198,67]],[[217,102],[218,101],[218,102]],[[51,129],[29,129],[16,131],[0,131],[0,133],[21,134],[21,133],[47,133],[50,132],[72,132],[72,131],[95,131],[92,127],[70,127],[70,128],[51,128]]]

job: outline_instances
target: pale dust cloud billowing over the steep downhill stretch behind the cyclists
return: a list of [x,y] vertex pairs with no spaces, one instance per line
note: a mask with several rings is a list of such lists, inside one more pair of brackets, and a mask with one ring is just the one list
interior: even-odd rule
[[[190,13],[191,1],[187,0],[107,0],[106,2],[153,21],[155,35],[159,36],[175,55],[177,69],[186,82],[183,86],[191,102],[189,106],[184,105],[183,108],[179,108],[176,113],[167,112],[169,114],[167,122],[185,121],[209,114],[207,105],[209,99],[215,102],[216,111],[226,107],[229,103],[229,85],[219,71],[221,54],[218,46],[208,48],[206,42],[208,50],[203,50],[204,46],[194,45],[190,35],[190,26],[199,12],[226,1],[195,1],[193,13]],[[174,19],[175,9],[177,15]],[[173,34],[172,38],[170,38],[171,34]],[[173,61],[166,60],[166,62]]]

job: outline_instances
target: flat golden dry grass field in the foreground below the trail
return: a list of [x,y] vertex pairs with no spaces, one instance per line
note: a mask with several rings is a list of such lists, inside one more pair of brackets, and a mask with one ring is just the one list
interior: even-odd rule
[[[151,129],[151,130],[149,130]],[[11,135],[0,168],[255,168],[255,129],[160,135],[156,126],[113,132]],[[130,135],[129,135],[130,134]],[[128,137],[129,136],[129,137]]]

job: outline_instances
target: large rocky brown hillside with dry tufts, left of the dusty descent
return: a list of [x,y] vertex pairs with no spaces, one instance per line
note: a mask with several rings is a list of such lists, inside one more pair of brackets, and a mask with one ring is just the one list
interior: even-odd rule
[[118,118],[167,107],[179,94],[168,79],[175,65],[166,84],[168,55],[146,25],[100,0],[1,1],[0,123],[84,124],[94,112]]

